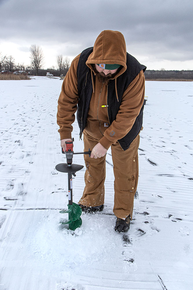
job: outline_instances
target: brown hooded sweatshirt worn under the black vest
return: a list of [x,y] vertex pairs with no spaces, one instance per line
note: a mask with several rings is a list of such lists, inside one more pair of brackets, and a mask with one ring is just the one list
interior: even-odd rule
[[[60,126],[58,130],[60,139],[71,138],[72,124],[75,120],[75,112],[78,104],[78,88],[77,88],[77,66],[80,55],[78,55],[71,64],[69,71],[63,81],[62,91],[58,99],[57,123]],[[115,88],[116,79],[125,72],[126,66],[126,44],[123,35],[118,31],[104,30],[97,37],[93,52],[88,57],[87,66],[93,70],[91,64],[121,64],[122,69],[114,77]],[[92,78],[93,79],[93,78]],[[143,70],[130,83],[124,91],[122,102],[116,119],[112,122],[101,135],[100,143],[108,149],[117,140],[124,137],[132,128],[136,117],[139,115],[140,109],[144,102],[144,84],[145,78]],[[93,94],[89,107],[88,123],[91,121],[108,122],[108,114],[106,108],[101,108],[101,105],[106,105],[107,85],[103,85],[95,78],[93,83]],[[85,128],[87,130],[87,127]],[[111,136],[111,131],[116,132],[115,136]]]

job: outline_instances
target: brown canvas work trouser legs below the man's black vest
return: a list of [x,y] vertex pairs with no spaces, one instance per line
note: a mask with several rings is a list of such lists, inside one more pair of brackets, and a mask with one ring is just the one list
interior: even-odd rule
[[[98,132],[99,133],[99,132]],[[93,148],[99,138],[91,137],[84,130],[84,151]],[[96,137],[97,134],[96,134]],[[138,182],[138,150],[139,135],[130,144],[130,147],[123,151],[118,142],[111,145],[113,159],[114,182],[114,208],[113,213],[125,219],[128,215],[132,218],[134,195]],[[98,206],[104,204],[104,180],[106,175],[105,158],[90,158],[84,155],[86,172],[84,175],[85,188],[79,201],[85,206]],[[113,188],[112,188],[113,192]]]

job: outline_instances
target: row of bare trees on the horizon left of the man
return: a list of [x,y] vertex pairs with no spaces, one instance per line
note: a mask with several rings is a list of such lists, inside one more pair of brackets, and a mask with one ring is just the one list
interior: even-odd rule
[[63,57],[63,55],[56,56],[56,66],[52,66],[43,69],[44,55],[43,50],[40,46],[33,44],[30,46],[30,65],[25,65],[24,63],[15,63],[15,59],[12,55],[2,55],[0,52],[0,71],[9,70],[11,72],[18,70],[25,70],[27,73],[30,72],[31,75],[45,75],[48,71],[54,76],[65,76],[70,67],[70,59],[68,57]]

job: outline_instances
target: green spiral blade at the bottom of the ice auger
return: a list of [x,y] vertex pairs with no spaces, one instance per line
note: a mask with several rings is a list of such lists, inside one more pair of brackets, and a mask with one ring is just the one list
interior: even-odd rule
[[76,203],[68,204],[68,210],[60,211],[60,213],[68,213],[68,218],[66,222],[60,222],[61,224],[69,224],[70,230],[75,230],[79,228],[82,224],[82,219],[80,218],[82,214],[82,209]]

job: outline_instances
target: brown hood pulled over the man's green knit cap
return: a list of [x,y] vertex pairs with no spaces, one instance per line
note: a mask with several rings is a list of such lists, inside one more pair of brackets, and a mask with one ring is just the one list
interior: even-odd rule
[[120,64],[122,70],[115,76],[126,70],[126,44],[124,36],[119,31],[104,30],[97,37],[93,52],[89,55],[86,64],[92,70],[91,64]]

